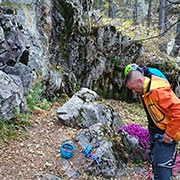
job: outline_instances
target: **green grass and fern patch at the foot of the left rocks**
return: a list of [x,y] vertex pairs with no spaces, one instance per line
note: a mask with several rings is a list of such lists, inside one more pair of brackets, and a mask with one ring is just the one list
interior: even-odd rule
[[41,84],[36,82],[27,95],[28,112],[15,115],[15,118],[11,120],[0,121],[0,141],[18,139],[27,131],[28,126],[33,124],[29,118],[30,113],[35,110],[47,110],[51,107],[49,102],[41,97],[41,93]]

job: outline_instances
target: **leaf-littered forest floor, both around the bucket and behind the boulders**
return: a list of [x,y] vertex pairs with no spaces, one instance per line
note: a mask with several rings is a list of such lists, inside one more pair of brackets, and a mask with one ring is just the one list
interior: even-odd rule
[[[126,123],[137,123],[146,127],[146,116],[137,104],[127,104],[121,101],[107,100],[113,109],[119,113]],[[43,175],[54,175],[62,180],[71,179],[64,174],[63,158],[59,153],[59,146],[64,141],[75,138],[78,130],[58,123],[56,110],[61,104],[53,105],[49,110],[36,110],[31,115],[33,125],[28,127],[26,133],[19,138],[1,142],[0,144],[0,179],[1,180],[41,180]],[[83,172],[87,158],[83,151],[75,145],[75,153],[69,160],[68,166],[75,166],[81,170],[78,179],[103,179],[102,177],[89,177]],[[144,173],[138,168],[143,167]],[[127,164],[128,174],[123,180],[148,180],[151,168],[147,163]],[[48,180],[46,176],[46,180]],[[52,176],[49,176],[49,179]],[[44,178],[45,179],[45,178]],[[43,180],[44,180],[43,179]],[[56,178],[54,178],[55,180]],[[177,179],[174,177],[173,179]]]

